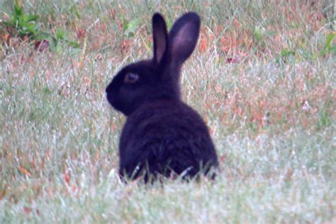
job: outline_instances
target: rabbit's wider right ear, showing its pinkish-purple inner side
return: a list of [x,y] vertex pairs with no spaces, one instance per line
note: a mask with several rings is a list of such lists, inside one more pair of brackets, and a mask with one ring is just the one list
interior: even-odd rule
[[181,16],[169,33],[171,60],[180,65],[191,55],[198,40],[201,19],[196,13]]

